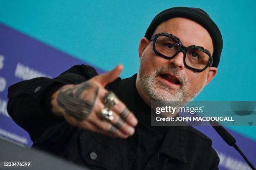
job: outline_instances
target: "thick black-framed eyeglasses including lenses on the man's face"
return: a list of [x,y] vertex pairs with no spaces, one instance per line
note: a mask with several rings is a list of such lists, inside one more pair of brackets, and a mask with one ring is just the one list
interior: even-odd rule
[[208,50],[196,45],[185,47],[178,37],[170,33],[161,32],[151,37],[150,41],[154,41],[153,49],[156,55],[167,60],[171,60],[179,52],[183,52],[185,67],[195,72],[202,72],[212,65],[213,58]]

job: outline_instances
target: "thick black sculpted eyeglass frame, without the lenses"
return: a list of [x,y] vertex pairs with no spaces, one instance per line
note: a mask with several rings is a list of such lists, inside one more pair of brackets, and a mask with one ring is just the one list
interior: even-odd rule
[[[177,50],[177,52],[172,56],[172,57],[167,57],[163,54],[161,54],[160,52],[158,52],[156,50],[156,40],[159,36],[165,36],[165,37],[170,37],[172,38],[175,42],[178,42],[178,45],[179,45],[179,49]],[[179,53],[179,52],[182,52],[183,53],[183,63],[184,63],[184,66],[187,67],[188,69],[190,70],[193,70],[195,72],[202,72],[204,71],[205,69],[207,69],[207,67],[209,66],[212,66],[212,62],[213,62],[213,58],[212,58],[212,55],[210,53],[209,50],[205,49],[204,47],[201,47],[201,46],[197,46],[197,45],[190,45],[188,47],[185,47],[184,45],[182,45],[182,42],[179,40],[178,37],[174,36],[173,34],[171,33],[167,33],[167,32],[161,32],[161,33],[158,33],[158,34],[155,34],[151,37],[150,41],[153,41],[153,50],[155,52],[156,55],[160,56],[160,57],[163,57],[164,59],[167,59],[167,60],[172,60],[174,57],[176,57],[176,55]],[[194,48],[194,49],[197,49],[197,50],[200,50],[202,52],[205,52],[208,56],[209,56],[209,60],[207,62],[207,65],[203,68],[203,69],[196,69],[196,68],[193,68],[193,67],[190,67],[189,65],[186,64],[186,55],[187,55],[187,50],[188,49],[191,49],[191,48]]]

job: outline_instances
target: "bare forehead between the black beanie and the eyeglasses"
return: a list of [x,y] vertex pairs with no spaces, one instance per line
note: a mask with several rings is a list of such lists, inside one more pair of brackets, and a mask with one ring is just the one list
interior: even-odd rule
[[181,40],[184,46],[202,46],[211,54],[213,52],[213,43],[209,32],[193,20],[187,18],[166,20],[156,28],[154,35],[161,32],[172,33]]

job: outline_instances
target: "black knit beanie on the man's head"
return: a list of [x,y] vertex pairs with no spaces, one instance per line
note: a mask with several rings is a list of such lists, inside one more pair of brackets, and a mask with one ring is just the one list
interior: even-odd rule
[[213,42],[213,63],[212,67],[218,67],[220,62],[220,54],[223,47],[223,40],[218,26],[212,21],[210,16],[200,8],[192,7],[172,7],[157,14],[149,25],[145,37],[150,40],[153,36],[154,31],[166,20],[171,18],[181,17],[193,20],[202,25],[212,37]]

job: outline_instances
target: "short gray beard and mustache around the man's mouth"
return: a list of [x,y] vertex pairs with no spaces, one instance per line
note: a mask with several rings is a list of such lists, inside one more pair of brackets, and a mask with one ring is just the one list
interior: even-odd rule
[[[170,72],[175,76],[179,77],[179,80],[181,82],[181,88],[178,92],[174,93],[171,87],[169,87],[161,81],[156,82],[155,78],[161,72]],[[155,70],[153,74],[146,74],[143,72],[143,69],[141,68],[140,65],[138,72],[138,80],[138,87],[140,88],[141,92],[144,95],[150,97],[151,100],[156,101],[192,101],[202,91],[203,88],[202,85],[198,92],[192,94],[189,93],[187,77],[182,75],[182,73],[179,72],[177,68],[173,67],[160,67],[159,69]],[[206,80],[207,79],[205,79],[205,82]],[[156,86],[157,84],[159,85],[158,87]]]

